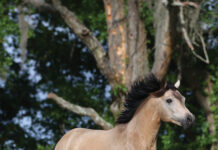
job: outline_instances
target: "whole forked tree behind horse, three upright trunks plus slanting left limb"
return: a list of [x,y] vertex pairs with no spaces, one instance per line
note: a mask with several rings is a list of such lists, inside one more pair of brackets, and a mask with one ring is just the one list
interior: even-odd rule
[[[146,45],[146,31],[144,20],[140,18],[140,7],[142,0],[104,0],[107,32],[108,32],[108,57],[91,31],[85,27],[77,16],[60,0],[52,0],[52,4],[34,0],[23,0],[35,8],[45,8],[60,13],[66,24],[83,41],[93,53],[97,66],[108,79],[112,89],[117,85],[130,88],[131,83],[149,73],[148,51]],[[173,50],[172,27],[170,22],[169,7],[161,0],[156,0],[156,38],[155,40],[155,62],[152,71],[162,79],[170,63]],[[128,14],[126,13],[128,7]],[[163,15],[160,15],[163,14]],[[162,18],[158,17],[161,16]],[[124,93],[114,97],[111,111],[116,117],[121,111],[124,102]]]

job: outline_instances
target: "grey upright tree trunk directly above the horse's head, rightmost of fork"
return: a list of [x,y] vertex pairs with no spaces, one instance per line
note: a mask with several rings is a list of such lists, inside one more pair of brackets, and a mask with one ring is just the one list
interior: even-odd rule
[[155,62],[152,72],[162,80],[176,45],[177,11],[169,2],[163,3],[163,0],[156,0],[155,5]]

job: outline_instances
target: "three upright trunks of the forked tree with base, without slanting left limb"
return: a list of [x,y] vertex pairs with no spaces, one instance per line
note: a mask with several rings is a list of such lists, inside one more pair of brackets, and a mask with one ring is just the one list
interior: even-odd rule
[[[124,0],[104,0],[108,27],[109,62],[117,84],[130,88],[133,81],[149,73],[148,51],[144,20],[140,18],[142,0],[128,1],[128,15]],[[173,51],[173,25],[176,16],[171,9],[159,0],[155,14],[156,41],[155,62],[152,72],[159,79],[166,75]],[[172,14],[172,15],[171,15]],[[109,81],[110,83],[110,81]],[[117,97],[111,105],[116,114],[122,109],[124,96]]]

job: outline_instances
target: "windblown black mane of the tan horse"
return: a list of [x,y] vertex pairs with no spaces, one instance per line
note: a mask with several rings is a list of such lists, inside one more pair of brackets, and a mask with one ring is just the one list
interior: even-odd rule
[[116,123],[122,124],[129,122],[140,104],[151,93],[161,90],[162,92],[159,92],[159,96],[162,96],[168,89],[176,90],[176,87],[169,82],[165,85],[165,83],[159,81],[154,74],[150,74],[149,76],[134,82],[125,99],[125,110],[118,117]]

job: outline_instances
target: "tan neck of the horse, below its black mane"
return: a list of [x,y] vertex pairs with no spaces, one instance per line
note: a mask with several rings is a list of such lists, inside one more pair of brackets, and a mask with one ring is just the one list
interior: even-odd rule
[[127,140],[133,149],[156,150],[156,137],[160,128],[160,117],[156,109],[157,99],[145,100],[127,125]]

